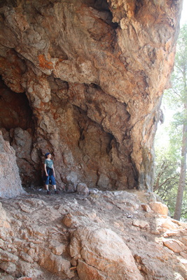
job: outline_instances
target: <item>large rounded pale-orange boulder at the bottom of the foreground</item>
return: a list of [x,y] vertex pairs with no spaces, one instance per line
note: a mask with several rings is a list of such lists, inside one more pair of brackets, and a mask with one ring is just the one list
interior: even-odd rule
[[109,229],[84,227],[75,230],[70,254],[78,260],[81,280],[143,280],[130,249]]

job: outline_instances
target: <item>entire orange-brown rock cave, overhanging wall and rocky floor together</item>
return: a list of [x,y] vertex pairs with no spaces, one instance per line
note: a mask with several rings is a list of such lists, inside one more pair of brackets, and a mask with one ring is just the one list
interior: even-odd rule
[[152,192],[181,8],[0,1],[1,280],[187,279],[187,223]]

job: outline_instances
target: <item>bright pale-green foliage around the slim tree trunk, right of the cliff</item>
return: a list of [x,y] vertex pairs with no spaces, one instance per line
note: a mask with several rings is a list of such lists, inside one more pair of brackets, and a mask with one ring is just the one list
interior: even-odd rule
[[[166,129],[169,136],[168,146],[155,148],[154,190],[167,204],[173,216],[179,188],[183,125],[187,123],[187,25],[183,25],[179,34],[172,73],[172,88],[165,92],[162,104],[174,113]],[[187,221],[186,190],[183,193],[181,218]]]

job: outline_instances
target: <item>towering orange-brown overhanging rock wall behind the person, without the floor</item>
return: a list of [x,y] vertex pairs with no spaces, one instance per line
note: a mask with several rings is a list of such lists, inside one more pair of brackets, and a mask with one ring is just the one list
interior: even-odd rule
[[[50,151],[58,186],[67,190],[78,183],[152,187],[153,138],[174,62],[181,2],[1,3],[0,73],[12,94],[26,94],[32,111],[26,127],[13,119],[9,124],[32,137],[24,146],[11,138],[17,156],[22,148],[26,155],[18,157],[30,172],[22,176],[26,185],[39,183],[32,182],[33,174],[39,176]],[[10,127],[0,125],[11,137]]]

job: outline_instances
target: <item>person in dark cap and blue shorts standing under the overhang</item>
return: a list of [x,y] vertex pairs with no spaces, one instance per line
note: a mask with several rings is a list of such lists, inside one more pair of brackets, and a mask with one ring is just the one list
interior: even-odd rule
[[53,165],[53,160],[51,160],[51,153],[46,153],[45,158],[46,160],[44,162],[44,170],[46,173],[45,183],[46,183],[47,195],[50,195],[50,190],[49,190],[50,181],[55,190],[55,194],[58,194],[56,181],[55,181],[55,169]]

